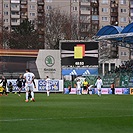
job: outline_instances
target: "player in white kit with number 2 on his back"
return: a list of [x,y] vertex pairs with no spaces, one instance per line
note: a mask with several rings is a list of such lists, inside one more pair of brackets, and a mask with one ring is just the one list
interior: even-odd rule
[[34,88],[34,84],[33,84],[33,79],[35,78],[35,75],[30,72],[29,69],[26,69],[26,73],[24,74],[24,79],[25,79],[25,89],[26,89],[26,100],[25,102],[28,102],[28,94],[29,94],[29,90],[31,91],[31,100],[35,101],[34,99],[34,92],[33,92],[33,88]]

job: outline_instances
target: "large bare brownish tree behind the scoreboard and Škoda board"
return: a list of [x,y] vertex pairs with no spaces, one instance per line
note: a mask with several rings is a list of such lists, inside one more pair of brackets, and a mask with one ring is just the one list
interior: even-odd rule
[[58,49],[62,39],[78,39],[77,20],[60,10],[50,10],[45,16],[45,46]]

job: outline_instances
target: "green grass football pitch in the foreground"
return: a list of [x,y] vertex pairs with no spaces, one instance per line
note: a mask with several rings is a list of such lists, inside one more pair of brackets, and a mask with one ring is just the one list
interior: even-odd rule
[[133,96],[25,94],[0,97],[0,133],[131,133]]

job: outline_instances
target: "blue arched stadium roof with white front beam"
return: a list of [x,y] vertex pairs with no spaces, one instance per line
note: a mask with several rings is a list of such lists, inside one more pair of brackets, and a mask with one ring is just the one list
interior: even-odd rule
[[118,26],[107,25],[96,34],[96,40],[115,40],[133,44],[133,22],[124,29]]

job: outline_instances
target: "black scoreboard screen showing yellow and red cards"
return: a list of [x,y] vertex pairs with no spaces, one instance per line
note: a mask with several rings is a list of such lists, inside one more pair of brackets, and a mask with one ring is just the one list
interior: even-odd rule
[[98,65],[98,42],[60,42],[62,66]]

